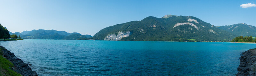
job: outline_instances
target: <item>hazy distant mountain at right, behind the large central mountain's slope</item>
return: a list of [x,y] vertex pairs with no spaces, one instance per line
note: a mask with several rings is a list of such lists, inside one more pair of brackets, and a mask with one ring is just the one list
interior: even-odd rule
[[245,23],[238,23],[227,26],[216,26],[219,29],[226,30],[236,36],[253,36],[256,37],[256,27]]

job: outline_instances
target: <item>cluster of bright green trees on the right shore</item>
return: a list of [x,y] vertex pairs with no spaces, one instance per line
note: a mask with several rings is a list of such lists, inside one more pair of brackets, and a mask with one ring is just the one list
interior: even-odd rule
[[256,42],[256,38],[253,40],[252,36],[238,36],[235,37],[231,42]]

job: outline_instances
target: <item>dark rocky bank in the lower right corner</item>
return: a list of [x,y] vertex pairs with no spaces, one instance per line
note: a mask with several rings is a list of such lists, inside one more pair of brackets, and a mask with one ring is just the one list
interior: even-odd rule
[[256,76],[256,48],[241,53],[236,76]]

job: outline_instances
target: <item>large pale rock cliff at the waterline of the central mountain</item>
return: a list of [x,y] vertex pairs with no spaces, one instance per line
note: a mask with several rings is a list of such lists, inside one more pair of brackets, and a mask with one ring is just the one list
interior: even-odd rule
[[104,38],[104,41],[119,41],[121,40],[123,37],[128,37],[129,35],[131,35],[131,32],[130,31],[127,31],[127,32],[121,32],[119,31],[118,32],[118,35],[116,34],[110,34],[108,36],[106,36]]

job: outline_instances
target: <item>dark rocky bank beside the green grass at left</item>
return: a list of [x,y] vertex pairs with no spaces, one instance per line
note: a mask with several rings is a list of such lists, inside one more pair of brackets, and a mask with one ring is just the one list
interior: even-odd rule
[[11,68],[13,71],[20,73],[22,76],[37,76],[36,71],[32,71],[28,64],[17,58],[13,53],[5,49],[3,46],[0,47],[3,49],[1,51],[3,53],[3,57],[10,60],[14,65],[14,67]]

